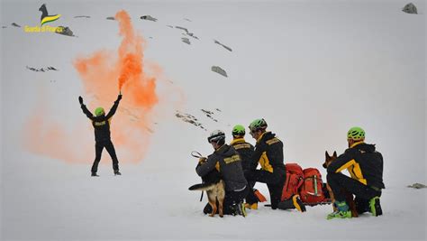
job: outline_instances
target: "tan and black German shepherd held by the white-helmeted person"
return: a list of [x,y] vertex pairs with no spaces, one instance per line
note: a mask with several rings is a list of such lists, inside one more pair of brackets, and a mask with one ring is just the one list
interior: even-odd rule
[[[201,164],[203,165],[206,161],[206,158],[201,158]],[[202,177],[201,184],[195,184],[191,186],[188,190],[201,190],[206,191],[209,204],[212,207],[212,213],[209,217],[213,217],[216,214],[216,211],[219,212],[221,218],[223,218],[223,201],[225,197],[225,185],[224,181],[221,179],[220,172],[213,169],[206,175]],[[202,200],[202,199],[200,199]],[[218,207],[216,202],[218,201]]]

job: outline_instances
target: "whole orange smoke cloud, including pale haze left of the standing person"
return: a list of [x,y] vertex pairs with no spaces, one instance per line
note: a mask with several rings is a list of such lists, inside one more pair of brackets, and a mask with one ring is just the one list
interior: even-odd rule
[[[120,11],[115,19],[119,23],[119,36],[122,37],[118,49],[95,51],[89,56],[77,58],[73,65],[82,80],[86,93],[82,96],[89,110],[104,107],[105,112],[108,112],[119,94],[118,90],[123,93],[123,99],[111,121],[112,140],[119,163],[135,163],[141,162],[150,146],[152,124],[154,118],[159,117],[154,113],[154,107],[159,104],[165,107],[174,105],[165,103],[165,100],[171,101],[168,99],[170,93],[159,100],[156,87],[163,71],[156,63],[144,62],[146,42],[140,34],[134,32],[129,15]],[[181,92],[179,89],[173,91]],[[180,94],[181,100],[172,100],[179,102],[177,105],[181,105],[183,99],[182,92]],[[46,108],[49,103],[42,97],[39,102]],[[76,108],[79,108],[78,104]],[[81,113],[80,109],[78,111]],[[41,115],[40,109],[35,111],[24,127],[24,144],[28,150],[67,162],[93,162],[93,127],[83,113],[77,118],[81,120],[78,122],[81,125],[72,126],[72,130],[69,130],[69,125],[55,122],[54,116],[48,116],[47,109],[43,113]],[[33,128],[34,123],[37,123],[38,128]],[[76,144],[79,146],[76,147]],[[101,163],[111,165],[110,156],[105,151],[103,160]]]

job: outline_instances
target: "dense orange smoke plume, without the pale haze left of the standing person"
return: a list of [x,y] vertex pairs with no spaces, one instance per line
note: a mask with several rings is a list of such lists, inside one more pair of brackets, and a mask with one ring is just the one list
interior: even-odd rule
[[91,57],[75,60],[74,66],[86,93],[97,97],[89,104],[92,109],[111,106],[118,94],[118,84],[123,100],[112,120],[113,141],[119,161],[122,156],[126,161],[138,162],[150,144],[150,109],[159,102],[157,78],[144,72],[145,42],[133,31],[129,15],[122,10],[115,14],[115,19],[119,23],[119,35],[123,37],[118,50],[115,53],[97,51]]

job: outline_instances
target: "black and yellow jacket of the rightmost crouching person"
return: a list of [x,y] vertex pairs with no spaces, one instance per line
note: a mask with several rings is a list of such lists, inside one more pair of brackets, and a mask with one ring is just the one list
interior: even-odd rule
[[383,183],[383,156],[375,150],[374,144],[354,144],[329,165],[328,172],[344,169],[350,172],[351,178],[365,185],[386,188]]

